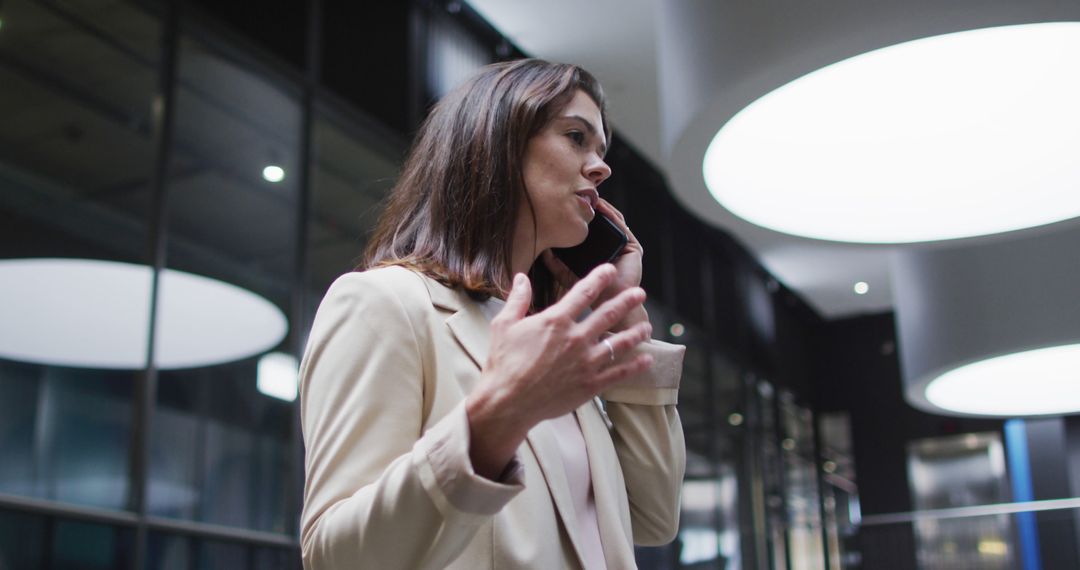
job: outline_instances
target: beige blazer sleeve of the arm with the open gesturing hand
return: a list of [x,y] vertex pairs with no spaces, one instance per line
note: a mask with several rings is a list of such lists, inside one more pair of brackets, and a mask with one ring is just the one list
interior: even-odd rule
[[473,472],[463,403],[423,431],[433,356],[408,303],[431,304],[405,271],[340,277],[312,326],[300,366],[307,569],[443,568],[524,488],[521,470],[504,484]]

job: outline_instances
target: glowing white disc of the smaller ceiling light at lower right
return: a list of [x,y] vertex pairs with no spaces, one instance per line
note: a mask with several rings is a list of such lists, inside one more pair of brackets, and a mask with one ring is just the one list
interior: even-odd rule
[[927,384],[927,399],[974,416],[1045,416],[1080,410],[1080,344],[997,356]]

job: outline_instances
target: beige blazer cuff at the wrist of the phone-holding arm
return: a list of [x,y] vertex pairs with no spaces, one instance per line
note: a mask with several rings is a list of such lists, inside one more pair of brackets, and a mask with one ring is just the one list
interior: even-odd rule
[[674,405],[678,402],[678,385],[683,380],[683,356],[686,347],[670,344],[659,340],[642,343],[635,352],[652,355],[652,366],[648,370],[632,376],[600,397],[622,404],[652,406]]

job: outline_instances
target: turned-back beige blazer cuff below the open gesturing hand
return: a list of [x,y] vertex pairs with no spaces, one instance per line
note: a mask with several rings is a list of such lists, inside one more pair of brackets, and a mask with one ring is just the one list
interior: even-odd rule
[[517,456],[499,481],[477,475],[469,459],[469,417],[464,402],[435,423],[414,446],[420,483],[444,514],[447,508],[482,518],[495,515],[525,489]]

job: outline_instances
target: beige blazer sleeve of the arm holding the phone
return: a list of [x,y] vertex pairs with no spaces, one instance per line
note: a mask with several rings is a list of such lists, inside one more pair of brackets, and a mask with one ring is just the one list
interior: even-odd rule
[[652,367],[606,391],[611,439],[626,483],[634,543],[658,546],[678,533],[686,442],[675,404],[686,347],[650,340]]

